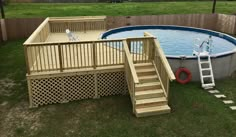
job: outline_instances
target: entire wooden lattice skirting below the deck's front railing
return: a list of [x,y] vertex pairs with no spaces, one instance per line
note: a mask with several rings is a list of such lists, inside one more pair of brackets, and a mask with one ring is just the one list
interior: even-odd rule
[[128,92],[124,71],[28,77],[30,107]]

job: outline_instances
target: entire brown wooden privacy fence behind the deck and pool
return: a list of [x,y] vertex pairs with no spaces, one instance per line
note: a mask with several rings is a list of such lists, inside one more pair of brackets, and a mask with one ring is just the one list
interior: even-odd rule
[[[27,38],[42,23],[44,18],[5,19],[8,40]],[[73,24],[73,23],[72,23]],[[186,14],[186,15],[150,15],[150,16],[107,16],[105,29],[130,25],[180,25],[199,27],[236,34],[236,16],[225,14]],[[57,25],[51,31],[57,30]],[[83,25],[80,25],[83,26]],[[92,26],[86,24],[85,26]],[[100,24],[102,27],[102,24]],[[76,27],[75,27],[76,28]],[[73,30],[73,28],[71,28]],[[2,31],[0,31],[0,41]]]

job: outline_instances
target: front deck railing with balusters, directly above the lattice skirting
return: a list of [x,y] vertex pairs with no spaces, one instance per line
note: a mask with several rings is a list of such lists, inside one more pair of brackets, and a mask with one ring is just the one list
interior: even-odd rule
[[25,44],[27,73],[124,64],[122,40]]

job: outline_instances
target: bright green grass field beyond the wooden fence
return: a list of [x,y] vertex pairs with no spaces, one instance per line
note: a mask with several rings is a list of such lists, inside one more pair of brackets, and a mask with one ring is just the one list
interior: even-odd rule
[[[216,12],[236,14],[236,1],[217,2]],[[159,15],[211,13],[212,2],[149,2],[149,3],[96,3],[96,4],[10,4],[7,18],[95,15]]]

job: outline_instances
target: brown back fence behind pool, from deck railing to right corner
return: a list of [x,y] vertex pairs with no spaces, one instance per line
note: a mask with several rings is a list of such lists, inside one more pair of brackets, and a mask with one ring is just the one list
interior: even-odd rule
[[216,30],[217,14],[107,17],[107,29],[132,25],[179,25]]

